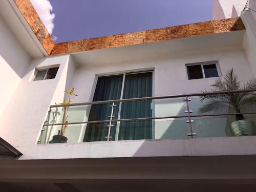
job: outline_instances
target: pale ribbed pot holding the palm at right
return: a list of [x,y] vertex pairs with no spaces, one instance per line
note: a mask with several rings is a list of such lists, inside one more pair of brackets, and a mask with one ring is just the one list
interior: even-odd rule
[[255,123],[251,120],[238,120],[230,124],[234,136],[256,135]]

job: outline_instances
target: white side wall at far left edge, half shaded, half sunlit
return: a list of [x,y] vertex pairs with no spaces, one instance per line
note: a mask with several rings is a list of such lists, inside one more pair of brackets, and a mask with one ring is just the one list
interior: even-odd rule
[[23,78],[30,60],[31,57],[0,14],[0,117]]

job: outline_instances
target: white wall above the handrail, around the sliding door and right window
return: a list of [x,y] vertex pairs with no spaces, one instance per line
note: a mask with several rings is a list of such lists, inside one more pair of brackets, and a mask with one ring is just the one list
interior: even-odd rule
[[[157,58],[151,61],[133,63],[108,63],[97,67],[80,67],[75,72],[73,84],[76,85],[74,102],[89,102],[97,74],[115,74],[123,71],[155,69],[155,96],[197,93],[209,89],[216,78],[188,80],[186,63],[218,60],[222,74],[234,68],[241,80],[253,77],[246,55],[242,48],[224,48],[190,52],[182,57]],[[195,86],[196,85],[196,86]]]

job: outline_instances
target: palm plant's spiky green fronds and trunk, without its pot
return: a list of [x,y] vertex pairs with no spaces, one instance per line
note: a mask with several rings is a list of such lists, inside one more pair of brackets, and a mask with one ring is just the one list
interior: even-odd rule
[[[217,78],[211,87],[210,91],[204,91],[203,93],[255,89],[256,79],[248,79],[247,83],[241,86],[241,82],[238,81],[238,76],[234,74],[233,69],[231,69],[223,78]],[[206,95],[202,96],[201,102],[203,101],[206,103],[199,108],[199,113],[216,112],[222,108],[230,108],[236,111],[236,113],[241,113],[241,110],[245,108],[246,104],[256,104],[256,94],[253,92],[242,92]],[[242,114],[236,115],[236,120],[243,119],[244,116]]]

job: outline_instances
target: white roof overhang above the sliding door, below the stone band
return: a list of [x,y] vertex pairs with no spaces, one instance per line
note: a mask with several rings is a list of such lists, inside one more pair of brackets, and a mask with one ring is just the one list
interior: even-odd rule
[[[159,62],[159,60],[196,55],[198,52],[242,49],[245,31],[185,37],[148,44],[99,49],[72,53],[77,66],[95,67],[130,65],[134,62]],[[129,64],[130,63],[130,64]]]

